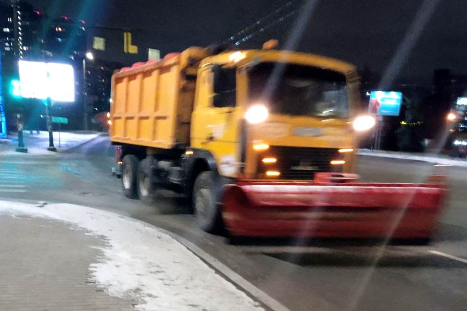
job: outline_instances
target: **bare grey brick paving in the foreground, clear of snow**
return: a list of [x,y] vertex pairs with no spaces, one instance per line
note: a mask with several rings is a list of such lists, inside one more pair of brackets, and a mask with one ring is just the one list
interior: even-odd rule
[[89,281],[103,246],[56,220],[0,215],[0,310],[134,310]]

